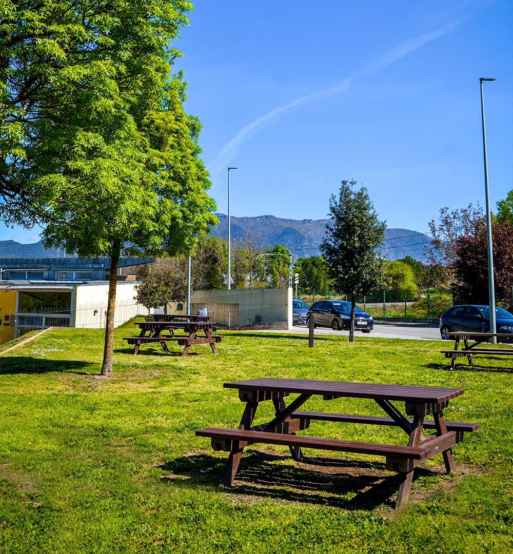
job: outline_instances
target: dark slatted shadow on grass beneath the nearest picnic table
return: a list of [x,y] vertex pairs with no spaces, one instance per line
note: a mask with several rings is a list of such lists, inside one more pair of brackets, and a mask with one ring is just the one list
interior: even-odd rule
[[[384,464],[312,456],[289,465],[283,463],[287,458],[249,450],[240,461],[234,486],[224,492],[240,502],[271,499],[345,510],[395,506],[401,479],[398,474],[390,475]],[[207,454],[183,456],[160,466],[162,479],[187,488],[217,489],[226,460]],[[414,480],[435,475],[438,473],[417,468]]]

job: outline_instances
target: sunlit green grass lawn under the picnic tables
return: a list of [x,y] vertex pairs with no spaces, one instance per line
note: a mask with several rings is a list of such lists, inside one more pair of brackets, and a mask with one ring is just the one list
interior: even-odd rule
[[[358,336],[226,333],[133,356],[117,330],[115,377],[98,376],[103,331],[51,330],[0,357],[0,552],[447,554],[513,552],[513,371],[505,357],[458,360],[443,343]],[[411,503],[382,458],[255,445],[235,486],[226,453],[198,428],[236,427],[243,404],[224,381],[254,377],[463,387],[448,420],[481,429],[417,470]],[[256,423],[271,416],[261,404]],[[269,403],[270,404],[270,403]],[[401,406],[403,408],[403,406]],[[304,409],[381,415],[372,401],[311,399]],[[398,429],[312,422],[321,437],[402,442]],[[340,464],[335,461],[340,460]]]

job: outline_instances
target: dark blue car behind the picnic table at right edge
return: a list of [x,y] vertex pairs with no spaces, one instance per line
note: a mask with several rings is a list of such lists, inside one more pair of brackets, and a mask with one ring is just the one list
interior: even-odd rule
[[[501,342],[513,342],[513,315],[502,308],[495,308],[497,333],[511,333],[511,338],[502,337]],[[449,339],[454,331],[490,332],[490,306],[464,304],[451,306],[440,316],[440,336]]]

